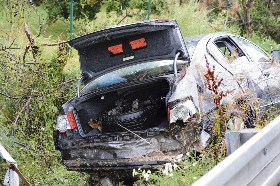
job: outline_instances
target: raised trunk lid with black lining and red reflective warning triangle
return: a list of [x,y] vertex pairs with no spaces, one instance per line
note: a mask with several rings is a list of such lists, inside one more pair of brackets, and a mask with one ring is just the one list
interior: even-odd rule
[[104,73],[145,61],[189,59],[175,19],[157,19],[112,26],[69,41],[78,50],[83,83]]

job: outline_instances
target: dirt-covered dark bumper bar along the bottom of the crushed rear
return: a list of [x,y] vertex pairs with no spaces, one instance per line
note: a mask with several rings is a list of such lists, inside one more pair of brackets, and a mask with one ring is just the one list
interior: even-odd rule
[[130,161],[129,158],[122,159],[102,159],[102,160],[72,160],[66,161],[65,167],[71,171],[83,171],[91,173],[94,171],[124,171],[133,169],[158,169],[164,167],[169,162],[166,160],[154,161]]

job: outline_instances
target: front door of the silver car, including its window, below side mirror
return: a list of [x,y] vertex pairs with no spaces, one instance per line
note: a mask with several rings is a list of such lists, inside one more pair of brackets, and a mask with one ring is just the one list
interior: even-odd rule
[[265,77],[269,90],[272,107],[280,107],[280,65],[273,61],[270,56],[254,43],[241,37],[233,37],[245,50],[253,63],[255,63]]

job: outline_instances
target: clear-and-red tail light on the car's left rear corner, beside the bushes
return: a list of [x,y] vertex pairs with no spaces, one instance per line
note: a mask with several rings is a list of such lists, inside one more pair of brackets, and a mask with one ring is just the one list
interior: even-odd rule
[[77,128],[76,121],[74,119],[73,112],[70,111],[67,114],[59,114],[56,118],[56,129],[61,133],[66,130]]

